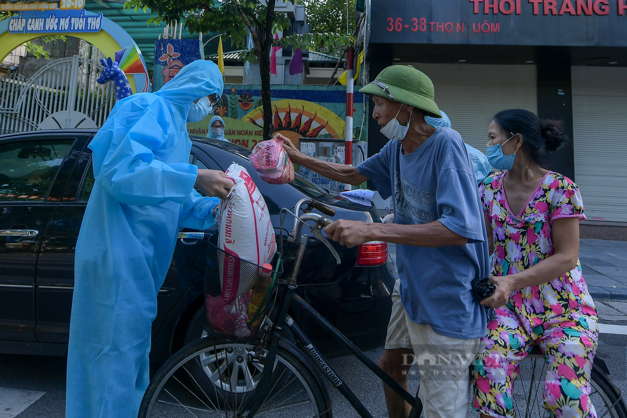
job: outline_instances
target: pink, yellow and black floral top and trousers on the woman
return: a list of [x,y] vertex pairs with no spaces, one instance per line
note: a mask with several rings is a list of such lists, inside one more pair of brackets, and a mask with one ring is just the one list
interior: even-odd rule
[[[514,215],[503,189],[505,173],[493,173],[480,185],[494,237],[493,276],[515,274],[553,255],[554,220],[586,218],[577,186],[552,171]],[[537,345],[547,363],[545,407],[558,418],[596,418],[589,381],[597,340],[597,313],[577,260],[566,274],[515,291],[506,306],[495,309],[475,360],[473,407],[492,417],[513,417],[512,383]]]

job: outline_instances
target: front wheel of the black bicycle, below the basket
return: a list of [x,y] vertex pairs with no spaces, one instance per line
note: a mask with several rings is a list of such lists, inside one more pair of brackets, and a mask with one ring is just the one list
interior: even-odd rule
[[[246,400],[266,367],[254,345],[203,338],[174,354],[152,378],[139,418],[246,417]],[[256,417],[331,418],[324,383],[292,353],[279,348],[270,393]]]

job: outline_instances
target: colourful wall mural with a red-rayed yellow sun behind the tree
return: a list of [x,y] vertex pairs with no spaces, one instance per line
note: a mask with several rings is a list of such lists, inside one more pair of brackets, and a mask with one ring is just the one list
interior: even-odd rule
[[[155,69],[156,73],[156,69]],[[322,85],[273,85],[272,132],[292,139],[299,137],[345,137],[346,88]],[[364,95],[355,93],[353,140],[367,141],[367,109],[364,119]],[[366,100],[366,108],[367,108]],[[224,119],[224,137],[235,144],[252,148],[263,139],[263,111],[260,85],[226,84],[214,114],[200,122],[187,124],[187,132],[204,137],[209,119],[219,115]],[[362,132],[363,120],[363,132]]]

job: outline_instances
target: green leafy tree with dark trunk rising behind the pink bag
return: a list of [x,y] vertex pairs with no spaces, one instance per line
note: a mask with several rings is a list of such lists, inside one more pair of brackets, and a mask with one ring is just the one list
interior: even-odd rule
[[[295,0],[287,0],[294,3]],[[261,103],[263,105],[263,137],[270,139],[272,107],[270,102],[270,51],[274,44],[281,46],[308,46],[311,42],[321,45],[348,43],[349,36],[335,33],[310,33],[273,40],[273,34],[290,27],[289,18],[275,11],[275,0],[129,0],[126,9],[149,8],[158,15],[148,24],[181,22],[190,33],[222,33],[231,39],[231,45],[245,50],[241,59],[259,62],[261,75]],[[343,33],[343,32],[342,32]],[[253,48],[246,48],[248,35],[253,38]]]

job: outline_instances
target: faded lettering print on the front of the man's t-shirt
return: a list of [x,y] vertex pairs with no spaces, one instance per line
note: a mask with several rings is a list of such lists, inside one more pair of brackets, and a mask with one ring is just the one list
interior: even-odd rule
[[415,225],[433,222],[438,219],[433,208],[431,191],[419,190],[394,171],[394,207],[396,223]]

